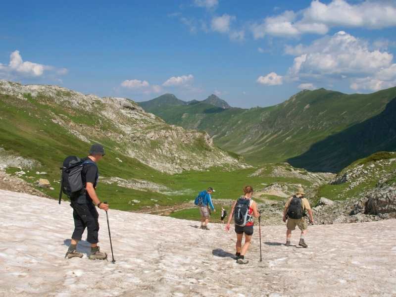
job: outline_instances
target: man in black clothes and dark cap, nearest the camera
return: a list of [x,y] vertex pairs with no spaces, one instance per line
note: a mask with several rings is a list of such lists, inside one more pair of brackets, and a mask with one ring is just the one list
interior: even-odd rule
[[96,163],[104,156],[104,148],[99,144],[94,144],[89,156],[83,158],[83,169],[81,178],[85,186],[85,191],[76,198],[71,199],[70,206],[73,208],[74,232],[70,247],[68,248],[65,258],[82,257],[83,254],[76,251],[77,243],[81,240],[85,228],[88,230],[87,241],[91,244],[91,253],[89,258],[92,260],[104,260],[107,258],[105,252],[101,252],[98,246],[99,221],[98,211],[100,209],[108,210],[108,204],[100,202],[95,189],[98,184],[99,171]]

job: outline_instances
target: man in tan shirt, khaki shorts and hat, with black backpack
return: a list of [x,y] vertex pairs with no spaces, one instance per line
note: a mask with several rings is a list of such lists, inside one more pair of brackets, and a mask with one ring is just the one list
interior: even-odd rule
[[301,237],[298,245],[301,247],[308,247],[304,241],[304,237],[308,231],[308,225],[304,218],[306,216],[305,210],[308,211],[309,221],[311,223],[313,223],[313,216],[308,199],[305,198],[304,195],[304,190],[302,188],[299,188],[296,192],[296,195],[289,198],[285,204],[285,210],[283,211],[283,221],[288,221],[285,244],[285,246],[287,247],[290,246],[292,231],[296,229],[296,226],[301,230]]

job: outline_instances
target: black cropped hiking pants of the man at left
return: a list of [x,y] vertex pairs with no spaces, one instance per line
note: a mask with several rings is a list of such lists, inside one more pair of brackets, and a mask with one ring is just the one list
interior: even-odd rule
[[71,201],[70,206],[73,208],[74,232],[72,239],[80,241],[85,228],[88,230],[87,241],[90,244],[98,243],[99,221],[98,211],[92,203],[77,203]]

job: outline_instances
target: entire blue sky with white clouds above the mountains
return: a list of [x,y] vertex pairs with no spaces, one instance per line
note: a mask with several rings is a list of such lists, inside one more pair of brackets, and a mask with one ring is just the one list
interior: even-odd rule
[[136,101],[396,85],[395,1],[6,1],[0,79]]

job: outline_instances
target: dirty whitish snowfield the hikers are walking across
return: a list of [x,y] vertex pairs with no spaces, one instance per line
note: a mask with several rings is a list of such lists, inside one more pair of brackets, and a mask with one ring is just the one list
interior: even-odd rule
[[[68,203],[0,190],[0,296],[396,296],[396,220],[310,226],[308,248],[285,247],[284,226],[255,227],[247,265],[235,233],[196,222],[109,211],[115,264],[64,260]],[[102,250],[110,252],[100,211]],[[292,244],[298,242],[293,234]]]

